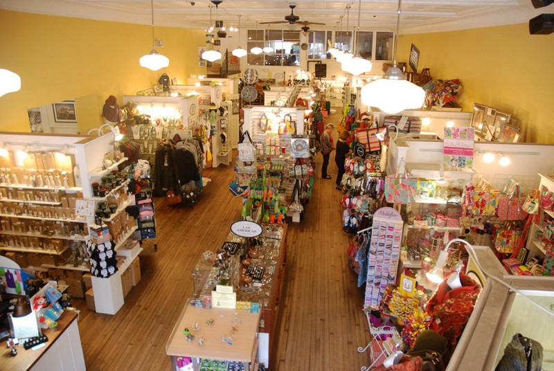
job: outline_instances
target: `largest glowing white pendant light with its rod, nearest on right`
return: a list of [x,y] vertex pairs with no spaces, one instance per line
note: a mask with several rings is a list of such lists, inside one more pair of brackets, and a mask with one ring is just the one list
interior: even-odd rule
[[396,66],[401,2],[402,0],[398,0],[393,67],[386,71],[383,78],[361,88],[361,102],[368,107],[377,107],[387,114],[397,114],[404,109],[418,109],[425,100],[425,91],[406,80],[404,73]]

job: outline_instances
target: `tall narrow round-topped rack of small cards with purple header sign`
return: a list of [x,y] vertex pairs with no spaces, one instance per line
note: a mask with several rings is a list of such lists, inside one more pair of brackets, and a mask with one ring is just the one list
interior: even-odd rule
[[379,208],[373,215],[364,307],[377,307],[387,285],[396,280],[403,224],[393,208]]

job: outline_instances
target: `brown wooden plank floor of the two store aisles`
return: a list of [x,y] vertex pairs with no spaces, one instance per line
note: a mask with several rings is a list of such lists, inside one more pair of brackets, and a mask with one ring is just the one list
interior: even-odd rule
[[[321,154],[317,161],[305,218],[289,223],[271,370],[359,370],[369,363],[367,353],[357,352],[370,335],[361,311],[363,290],[346,265],[350,236],[341,228],[341,192],[334,188],[337,166],[331,158],[333,179],[325,180]],[[192,208],[155,200],[158,238],[143,244],[142,280],[115,316],[96,314],[84,300],[74,300],[81,310],[88,370],[170,370],[166,341],[187,298],[193,296],[193,267],[204,251],[217,250],[233,221],[241,219],[241,199],[228,190],[233,166],[221,165],[203,175],[211,182]]]

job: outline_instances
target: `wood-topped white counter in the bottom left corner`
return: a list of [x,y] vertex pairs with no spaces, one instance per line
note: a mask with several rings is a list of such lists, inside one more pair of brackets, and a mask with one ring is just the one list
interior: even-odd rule
[[[22,344],[16,345],[17,356],[10,354],[10,348],[3,348],[0,359],[2,370],[86,370],[82,354],[81,339],[77,326],[77,314],[64,311],[57,320],[57,331],[42,330],[48,337],[46,346],[39,350],[25,350]],[[3,345],[6,342],[2,343]]]

